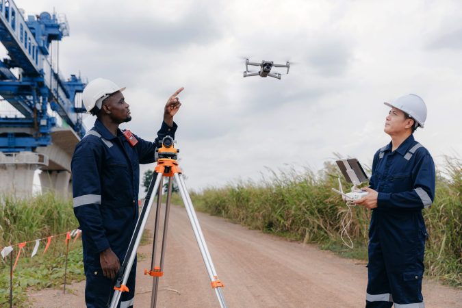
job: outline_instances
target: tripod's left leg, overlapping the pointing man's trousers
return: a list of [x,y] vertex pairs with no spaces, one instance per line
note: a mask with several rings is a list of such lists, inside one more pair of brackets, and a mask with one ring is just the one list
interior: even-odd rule
[[[159,183],[161,182],[162,177],[163,177],[162,173],[157,173],[157,178],[155,179],[152,192],[157,192],[157,190],[159,189]],[[144,227],[146,227],[146,221],[148,220],[149,212],[151,211],[151,207],[153,206],[153,200],[154,198],[151,198],[151,197],[149,198],[148,204],[144,205],[142,209],[142,215],[140,215],[140,218],[138,218],[138,221],[136,222],[135,231],[133,235],[131,236],[131,240],[130,240],[129,251],[127,251],[127,255],[125,255],[123,266],[120,267],[120,271],[123,271],[123,276],[117,278],[116,287],[125,287],[125,284],[127,283],[127,280],[128,280],[128,277],[131,271],[131,266],[133,266],[133,261],[135,261],[136,251],[138,250],[138,246],[140,246],[140,241],[141,241],[142,233],[144,231]],[[120,296],[122,295],[122,292],[123,290],[114,291],[114,294],[112,295],[111,305],[110,305],[111,308],[117,307],[118,302],[120,300]]]

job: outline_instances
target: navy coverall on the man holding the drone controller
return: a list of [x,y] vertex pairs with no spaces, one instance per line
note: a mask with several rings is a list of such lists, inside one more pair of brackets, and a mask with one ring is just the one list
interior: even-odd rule
[[370,188],[378,192],[369,229],[366,307],[421,308],[426,228],[422,209],[435,198],[435,165],[413,135],[379,149]]

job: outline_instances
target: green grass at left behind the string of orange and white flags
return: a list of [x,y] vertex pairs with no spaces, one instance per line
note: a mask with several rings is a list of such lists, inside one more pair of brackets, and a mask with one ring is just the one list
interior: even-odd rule
[[[77,226],[72,203],[62,201],[54,194],[42,194],[27,200],[3,196],[0,200],[0,249],[10,244],[64,233]],[[46,240],[42,240],[37,255],[31,258],[34,244],[35,242],[32,242],[25,246],[14,270],[14,307],[25,305],[27,290],[60,287],[64,283],[65,235],[53,238],[45,254],[43,251]],[[7,307],[10,300],[10,257],[13,255],[14,261],[17,252],[18,248],[15,246],[14,251],[5,260],[0,257],[0,307]],[[74,244],[71,240],[66,282],[83,279],[85,277],[81,241],[77,240]]]

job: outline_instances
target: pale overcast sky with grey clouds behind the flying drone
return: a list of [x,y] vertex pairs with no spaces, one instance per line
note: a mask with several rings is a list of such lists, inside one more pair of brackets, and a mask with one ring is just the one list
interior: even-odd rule
[[[175,122],[188,188],[318,170],[333,153],[370,166],[389,142],[383,101],[408,93],[428,107],[415,138],[439,166],[461,157],[461,1],[15,2],[66,14],[60,72],[126,86],[123,127],[138,136],[155,138],[185,87]],[[294,64],[281,80],[243,78],[245,57]]]

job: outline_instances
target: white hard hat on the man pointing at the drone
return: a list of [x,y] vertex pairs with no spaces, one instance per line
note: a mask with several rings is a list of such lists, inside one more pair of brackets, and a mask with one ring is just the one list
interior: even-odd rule
[[85,109],[87,112],[90,112],[94,106],[101,109],[104,99],[117,91],[123,90],[125,90],[125,87],[120,88],[110,80],[103,78],[94,79],[88,83],[82,93],[82,100],[84,101]]

